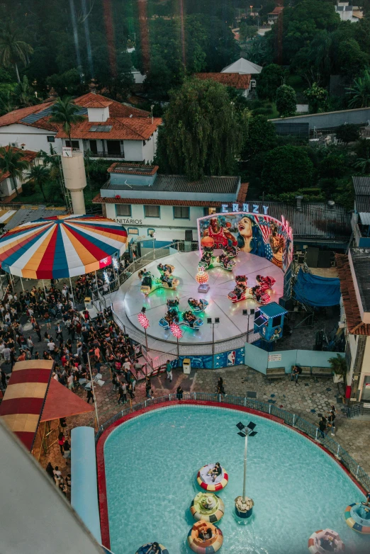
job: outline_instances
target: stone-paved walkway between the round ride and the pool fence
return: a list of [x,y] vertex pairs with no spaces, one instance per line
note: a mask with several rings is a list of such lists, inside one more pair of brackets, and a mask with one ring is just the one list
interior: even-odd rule
[[[106,380],[103,387],[96,388],[96,399],[100,423],[106,422],[115,414],[120,412],[122,406],[118,406],[118,394],[113,392],[109,371],[102,368],[103,380]],[[160,397],[169,392],[176,392],[181,384],[185,392],[216,392],[217,381],[223,377],[225,391],[232,395],[255,397],[263,402],[271,402],[277,407],[282,407],[307,419],[313,424],[318,424],[318,414],[327,412],[330,405],[337,407],[337,433],[335,440],[347,450],[350,456],[370,474],[370,422],[359,419],[347,419],[342,412],[342,399],[337,390],[337,385],[332,383],[330,378],[319,378],[318,383],[312,379],[301,380],[295,385],[288,380],[276,380],[269,383],[261,373],[254,371],[247,366],[235,366],[220,370],[198,370],[192,371],[191,375],[184,375],[179,370],[174,370],[172,383],[166,381],[165,376],[152,378],[155,388],[155,397]],[[86,392],[78,391],[81,397],[86,397]],[[136,397],[133,403],[145,400],[145,385],[140,383],[136,388]],[[227,400],[227,397],[225,398]],[[127,407],[127,404],[124,405]],[[94,426],[94,412],[81,414],[67,419],[67,429],[79,425]],[[60,456],[57,445],[52,446],[46,457],[40,458],[40,462],[46,466],[48,461],[52,465],[59,465],[63,473],[67,474],[70,466],[65,466],[65,459]]]

